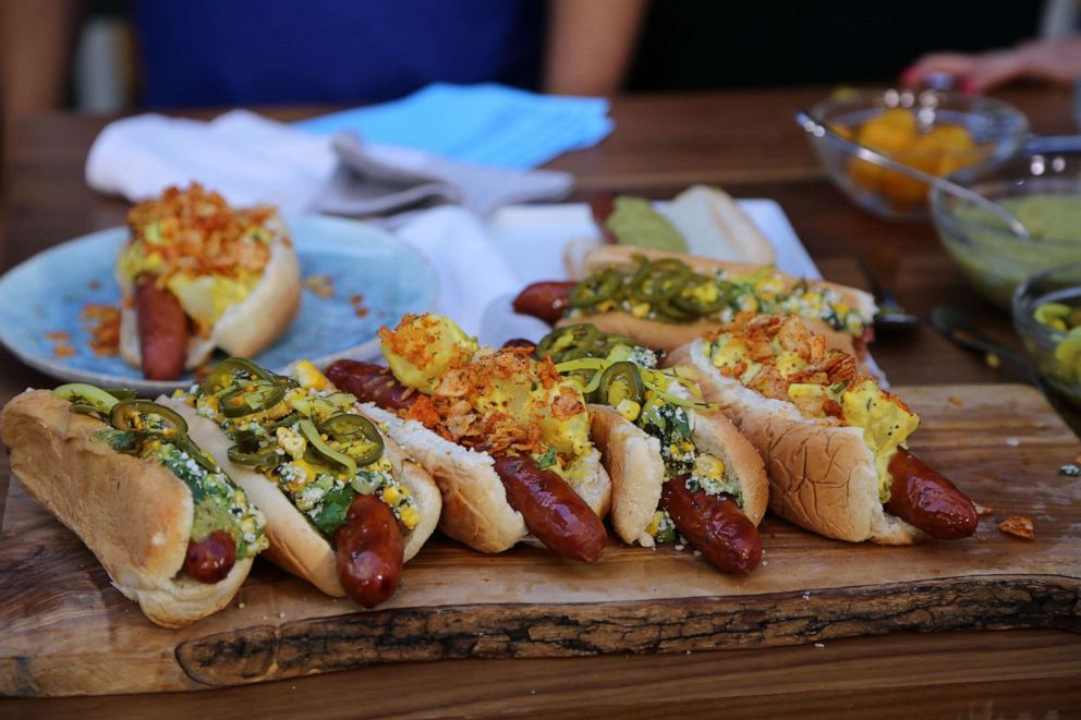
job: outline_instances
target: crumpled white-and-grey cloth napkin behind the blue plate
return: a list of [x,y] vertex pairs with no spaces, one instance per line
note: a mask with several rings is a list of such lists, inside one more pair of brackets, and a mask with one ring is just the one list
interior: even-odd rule
[[234,205],[286,212],[374,215],[424,200],[487,215],[502,205],[558,199],[573,179],[554,171],[499,170],[418,150],[309,134],[245,110],[210,122],[137,115],[110,123],[86,160],[87,184],[130,200],[199,181]]

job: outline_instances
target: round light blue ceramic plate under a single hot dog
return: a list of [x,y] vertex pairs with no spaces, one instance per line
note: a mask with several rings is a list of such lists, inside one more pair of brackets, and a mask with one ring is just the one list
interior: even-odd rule
[[[378,353],[379,327],[393,325],[405,313],[423,313],[435,302],[434,268],[389,233],[341,218],[287,220],[302,278],[327,276],[333,295],[320,297],[305,288],[289,330],[254,358],[260,365],[287,371],[303,358],[321,366],[339,357],[371,357]],[[84,235],[0,278],[0,342],[27,365],[61,380],[135,388],[145,394],[191,385],[191,375],[170,382],[145,380],[119,356],[90,350],[83,308],[87,303],[119,304],[113,263],[126,239],[124,228]],[[355,295],[363,296],[364,317],[351,303]],[[50,333],[66,333],[66,339]],[[74,355],[58,356],[60,344]]]

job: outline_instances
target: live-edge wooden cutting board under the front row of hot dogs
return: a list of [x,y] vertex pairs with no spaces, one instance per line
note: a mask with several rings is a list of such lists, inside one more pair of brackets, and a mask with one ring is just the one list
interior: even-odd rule
[[[373,662],[682,652],[899,630],[1081,632],[1081,444],[1024,386],[902,388],[912,449],[992,508],[976,537],[907,548],[826,540],[767,518],[746,577],[691,552],[612,542],[597,565],[521,546],[482,556],[434,538],[376,611],[257,562],[234,602],[156,627],[78,539],[12,481],[0,534],[0,693],[145,693]],[[1030,515],[1034,540],[1003,535]]]

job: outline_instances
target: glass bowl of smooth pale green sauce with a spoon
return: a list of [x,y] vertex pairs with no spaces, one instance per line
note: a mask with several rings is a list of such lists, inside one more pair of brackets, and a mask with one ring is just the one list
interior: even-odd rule
[[[1061,197],[1081,211],[1081,137],[1036,137],[1006,162],[971,168],[949,176],[985,197],[1007,205],[1029,198]],[[1072,199],[1071,199],[1072,198]],[[1018,210],[1021,221],[1046,236],[1047,218]],[[1081,224],[1062,237],[1030,241],[971,203],[940,190],[931,193],[931,212],[946,251],[984,297],[1009,309],[1013,290],[1053,267],[1081,263]]]

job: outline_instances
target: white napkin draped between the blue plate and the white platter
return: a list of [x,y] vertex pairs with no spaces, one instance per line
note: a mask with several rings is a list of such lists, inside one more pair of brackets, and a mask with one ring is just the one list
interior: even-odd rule
[[439,291],[434,312],[452,318],[471,335],[481,334],[491,301],[521,290],[506,256],[474,212],[433,208],[414,215],[396,233],[436,269]]

